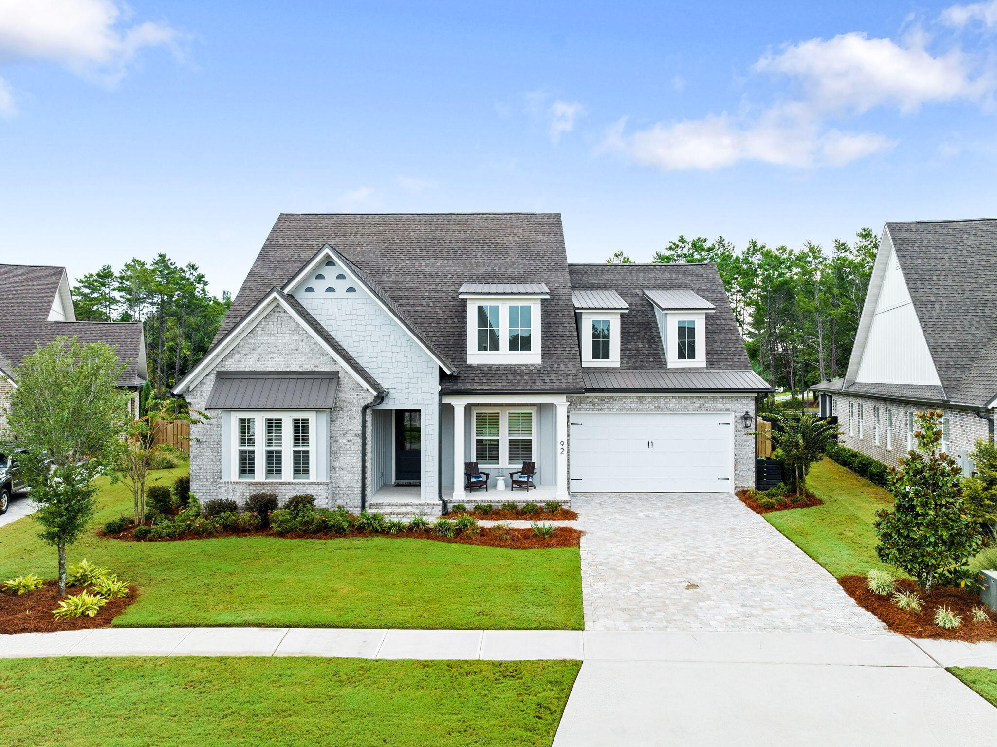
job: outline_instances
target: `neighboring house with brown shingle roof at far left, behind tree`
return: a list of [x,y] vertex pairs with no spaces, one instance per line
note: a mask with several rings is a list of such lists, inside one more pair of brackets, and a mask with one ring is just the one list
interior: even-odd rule
[[146,345],[140,322],[77,321],[65,267],[0,264],[0,434],[6,430],[6,409],[17,382],[14,366],[40,345],[57,337],[76,336],[80,342],[105,342],[117,349],[125,364],[119,384],[135,393],[146,383]]

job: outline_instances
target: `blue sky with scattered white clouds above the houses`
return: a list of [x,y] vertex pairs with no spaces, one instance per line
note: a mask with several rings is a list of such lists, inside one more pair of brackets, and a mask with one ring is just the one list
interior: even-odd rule
[[997,0],[0,0],[0,261],[234,291],[281,211],[556,211],[576,261],[992,216],[995,40]]

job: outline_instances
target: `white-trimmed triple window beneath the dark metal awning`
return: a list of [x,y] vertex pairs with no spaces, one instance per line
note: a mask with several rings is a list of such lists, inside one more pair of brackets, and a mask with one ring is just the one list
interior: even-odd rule
[[232,429],[235,479],[316,480],[314,413],[233,413]]

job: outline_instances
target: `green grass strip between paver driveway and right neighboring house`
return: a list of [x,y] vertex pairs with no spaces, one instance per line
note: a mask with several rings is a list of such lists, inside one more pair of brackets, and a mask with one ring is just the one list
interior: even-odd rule
[[891,567],[875,557],[872,522],[893,505],[892,496],[830,459],[814,465],[807,487],[824,506],[765,514],[772,526],[836,577]]

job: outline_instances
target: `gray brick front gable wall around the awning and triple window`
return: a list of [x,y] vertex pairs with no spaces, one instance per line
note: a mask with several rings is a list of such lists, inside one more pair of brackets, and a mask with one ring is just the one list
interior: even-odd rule
[[329,479],[321,482],[255,482],[223,479],[227,416],[209,411],[211,420],[191,428],[190,490],[201,501],[226,498],[240,505],[252,493],[276,493],[281,501],[309,493],[316,506],[360,509],[360,412],[373,399],[353,376],[281,307],[275,307],[187,393],[192,408],[204,410],[215,371],[338,370],[336,404],[329,415]]

